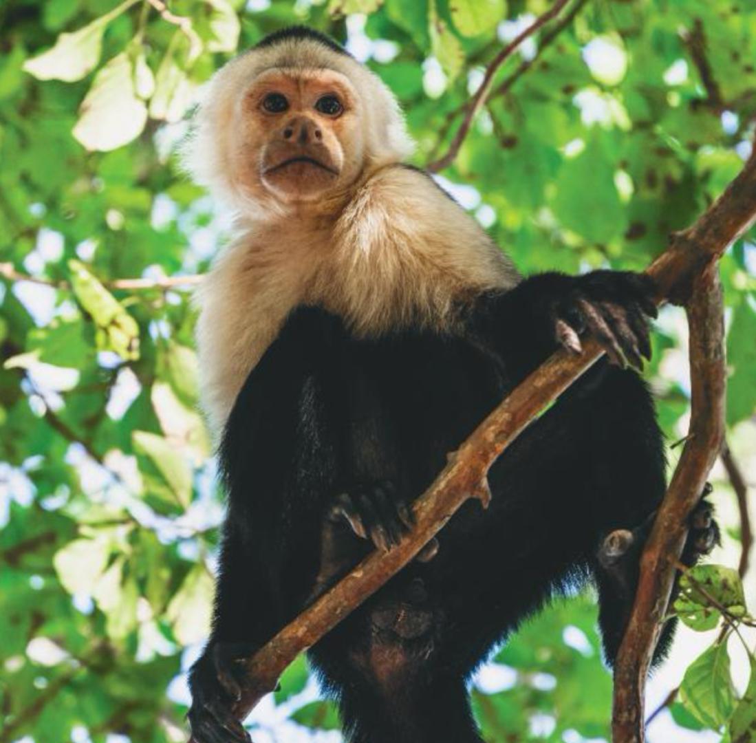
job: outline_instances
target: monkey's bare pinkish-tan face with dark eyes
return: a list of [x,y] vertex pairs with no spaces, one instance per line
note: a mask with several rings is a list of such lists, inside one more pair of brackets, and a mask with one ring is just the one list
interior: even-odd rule
[[241,185],[284,203],[349,186],[364,159],[359,99],[333,70],[268,70],[243,98],[236,128]]

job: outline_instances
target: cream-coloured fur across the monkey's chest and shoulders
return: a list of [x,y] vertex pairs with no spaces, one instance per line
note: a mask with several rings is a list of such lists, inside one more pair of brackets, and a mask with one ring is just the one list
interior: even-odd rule
[[410,325],[447,329],[460,301],[518,280],[509,259],[423,175],[373,175],[338,218],[247,229],[200,287],[202,402],[225,422],[244,379],[297,305],[339,314],[358,336]]

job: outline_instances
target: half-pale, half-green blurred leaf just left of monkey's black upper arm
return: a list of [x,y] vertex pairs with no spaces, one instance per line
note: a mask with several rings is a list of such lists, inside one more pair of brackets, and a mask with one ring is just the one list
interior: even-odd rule
[[[148,431],[132,432],[132,444],[141,455],[140,469],[147,478],[147,494],[182,509],[191,501],[192,472],[186,457],[166,438]],[[151,464],[151,467],[146,466]],[[156,507],[160,503],[154,504]]]

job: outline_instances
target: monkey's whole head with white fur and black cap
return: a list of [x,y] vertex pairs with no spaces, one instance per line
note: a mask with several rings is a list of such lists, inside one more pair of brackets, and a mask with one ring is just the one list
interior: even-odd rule
[[327,36],[295,27],[215,74],[187,162],[235,209],[264,218],[317,209],[411,147],[386,85]]

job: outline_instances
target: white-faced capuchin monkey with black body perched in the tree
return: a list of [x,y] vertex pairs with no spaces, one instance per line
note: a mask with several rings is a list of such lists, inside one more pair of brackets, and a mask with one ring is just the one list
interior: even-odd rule
[[[411,150],[383,82],[302,27],[223,67],[197,113],[189,166],[236,214],[198,296],[228,514],[212,635],[190,675],[197,743],[249,740],[231,714],[234,661],[370,550],[391,550],[447,454],[587,335],[606,357],[491,467],[488,509],[463,505],[308,655],[352,743],[480,743],[472,672],[589,579],[615,659],[665,492],[652,399],[628,368],[650,355],[654,287],[618,271],[522,278],[404,164]],[[705,500],[691,526],[687,565],[718,538]]]

